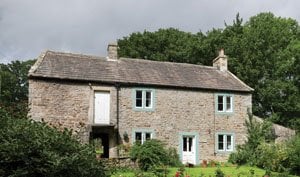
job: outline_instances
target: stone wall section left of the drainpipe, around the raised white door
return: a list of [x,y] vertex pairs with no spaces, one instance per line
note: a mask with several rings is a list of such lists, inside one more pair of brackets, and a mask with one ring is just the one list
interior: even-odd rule
[[[110,92],[110,123],[116,125],[116,89],[90,83],[29,79],[29,116],[61,129],[72,129],[86,143],[93,125],[95,91]],[[106,131],[107,127],[99,129]],[[114,129],[115,127],[111,127],[107,130],[112,139],[109,145],[111,157],[117,156]]]

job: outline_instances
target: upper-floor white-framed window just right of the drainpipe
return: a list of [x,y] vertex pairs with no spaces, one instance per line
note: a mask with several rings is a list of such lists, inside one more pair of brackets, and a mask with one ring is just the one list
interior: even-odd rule
[[153,110],[153,89],[134,89],[133,96],[133,106],[135,110]]

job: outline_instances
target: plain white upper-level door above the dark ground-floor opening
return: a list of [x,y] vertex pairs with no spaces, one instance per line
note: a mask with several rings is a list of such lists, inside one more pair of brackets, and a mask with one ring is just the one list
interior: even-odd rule
[[110,93],[95,92],[94,123],[109,124]]

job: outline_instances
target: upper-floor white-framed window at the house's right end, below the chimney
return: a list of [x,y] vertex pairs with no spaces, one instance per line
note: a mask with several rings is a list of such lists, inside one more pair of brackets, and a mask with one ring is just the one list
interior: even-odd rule
[[233,96],[230,94],[217,94],[216,111],[219,113],[233,112]]

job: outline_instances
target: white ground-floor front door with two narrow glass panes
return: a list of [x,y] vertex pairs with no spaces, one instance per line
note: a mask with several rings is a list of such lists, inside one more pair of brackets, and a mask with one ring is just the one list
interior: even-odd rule
[[196,164],[195,136],[182,136],[182,163]]

